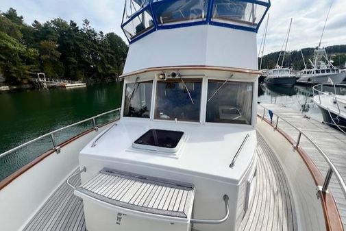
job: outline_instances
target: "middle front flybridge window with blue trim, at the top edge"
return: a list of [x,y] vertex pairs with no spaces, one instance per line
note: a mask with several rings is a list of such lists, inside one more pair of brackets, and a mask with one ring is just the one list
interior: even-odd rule
[[207,0],[154,0],[153,10],[156,13],[158,25],[188,21],[206,20]]

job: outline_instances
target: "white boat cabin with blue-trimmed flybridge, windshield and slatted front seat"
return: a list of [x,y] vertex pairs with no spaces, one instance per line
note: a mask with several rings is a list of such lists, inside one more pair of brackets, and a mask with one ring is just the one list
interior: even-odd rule
[[[237,230],[256,185],[255,32],[268,7],[126,1],[121,120],[79,155],[88,230]],[[90,189],[100,174],[127,182]]]

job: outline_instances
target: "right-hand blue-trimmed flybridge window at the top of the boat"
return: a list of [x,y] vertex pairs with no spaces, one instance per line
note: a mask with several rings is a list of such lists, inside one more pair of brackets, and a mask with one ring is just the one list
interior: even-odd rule
[[264,5],[243,0],[214,0],[212,21],[256,28],[266,9]]

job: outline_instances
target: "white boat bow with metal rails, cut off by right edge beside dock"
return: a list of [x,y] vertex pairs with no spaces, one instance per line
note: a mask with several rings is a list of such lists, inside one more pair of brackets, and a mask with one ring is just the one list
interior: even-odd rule
[[313,86],[313,101],[321,110],[323,122],[346,132],[346,84]]

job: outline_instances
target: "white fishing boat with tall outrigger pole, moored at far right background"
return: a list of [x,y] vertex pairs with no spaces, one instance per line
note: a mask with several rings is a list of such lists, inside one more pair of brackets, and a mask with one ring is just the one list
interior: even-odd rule
[[299,84],[327,84],[329,80],[332,80],[334,84],[340,84],[346,78],[346,73],[342,73],[338,68],[336,68],[336,66],[332,64],[331,60],[329,60],[328,58],[325,48],[321,47],[321,42],[325,31],[325,25],[327,24],[328,16],[330,14],[330,9],[332,8],[333,1],[330,4],[330,8],[325,19],[321,38],[319,40],[319,45],[316,49],[314,49],[314,62],[312,62],[309,59],[309,62],[311,64],[310,69],[307,68],[306,62],[304,60],[303,51],[301,51],[301,56],[303,58],[305,68],[304,70],[300,71],[297,75],[297,77],[299,77],[297,83]]

